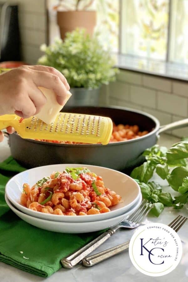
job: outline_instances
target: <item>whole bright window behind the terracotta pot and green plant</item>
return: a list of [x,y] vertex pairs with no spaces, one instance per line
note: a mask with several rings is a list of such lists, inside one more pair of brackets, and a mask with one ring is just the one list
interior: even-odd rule
[[[61,0],[65,8],[71,10],[76,1]],[[53,11],[52,6],[60,0],[48,2]],[[87,4],[87,10],[96,10],[95,30],[104,48],[135,58],[188,64],[188,0],[84,0],[79,3],[80,9]],[[55,11],[53,13],[54,22]],[[56,31],[59,33],[57,27]]]

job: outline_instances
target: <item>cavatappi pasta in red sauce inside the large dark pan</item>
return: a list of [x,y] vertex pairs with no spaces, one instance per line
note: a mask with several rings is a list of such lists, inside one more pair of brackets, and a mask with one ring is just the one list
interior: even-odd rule
[[[115,123],[113,123],[113,131],[112,131],[112,136],[110,138],[109,143],[114,143],[114,142],[119,142],[119,141],[127,141],[127,140],[130,140],[130,139],[139,138],[139,137],[144,136],[148,133],[149,132],[147,130],[140,131],[138,125],[128,125],[128,124],[126,124],[126,125],[123,125],[123,124],[116,125]],[[38,139],[36,139],[36,140],[38,140]],[[84,143],[79,143],[79,142],[46,140],[46,139],[42,139],[40,141],[60,143],[60,144],[84,144]]]

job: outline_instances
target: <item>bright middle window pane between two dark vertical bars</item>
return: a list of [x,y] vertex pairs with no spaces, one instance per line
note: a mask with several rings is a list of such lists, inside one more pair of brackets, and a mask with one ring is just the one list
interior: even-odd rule
[[165,60],[169,0],[122,1],[121,53]]

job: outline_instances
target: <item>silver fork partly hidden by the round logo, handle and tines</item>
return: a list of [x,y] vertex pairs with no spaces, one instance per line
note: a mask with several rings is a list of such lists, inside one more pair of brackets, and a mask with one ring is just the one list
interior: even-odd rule
[[[170,224],[168,225],[169,227],[171,227],[172,229],[175,230],[175,232],[178,232],[178,230],[184,225],[184,223],[186,222],[187,217],[183,217],[182,215],[179,215],[178,217],[176,217],[172,222],[170,222]],[[123,244],[120,244],[118,246],[115,246],[113,248],[109,248],[103,252],[100,253],[96,253],[90,257],[87,257],[85,259],[82,259],[82,264],[84,266],[93,266],[95,264],[98,264],[99,262],[108,259],[118,253],[123,252],[124,250],[128,249],[129,247],[129,242],[127,241]]]

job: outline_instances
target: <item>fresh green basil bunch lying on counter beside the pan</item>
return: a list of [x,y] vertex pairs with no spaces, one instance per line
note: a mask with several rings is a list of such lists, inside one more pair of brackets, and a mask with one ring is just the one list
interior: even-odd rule
[[[164,206],[181,209],[188,202],[188,141],[176,143],[169,150],[154,145],[146,149],[143,155],[146,162],[136,167],[131,177],[140,185],[143,198],[154,203],[151,213],[158,217]],[[173,199],[170,193],[162,191],[157,182],[149,182],[154,172],[166,179],[180,195]]]

